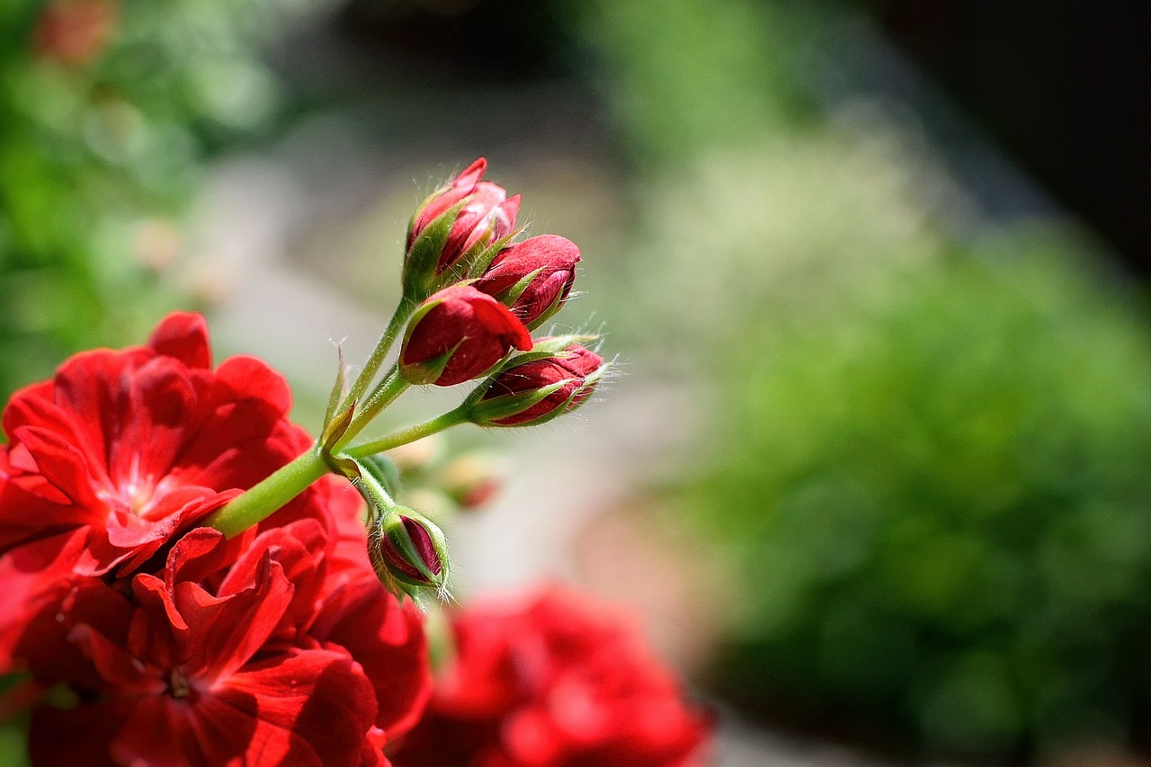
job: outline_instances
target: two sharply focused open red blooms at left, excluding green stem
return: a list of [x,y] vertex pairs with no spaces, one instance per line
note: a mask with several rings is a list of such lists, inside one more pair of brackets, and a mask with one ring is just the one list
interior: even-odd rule
[[287,386],[211,367],[203,318],[17,393],[0,448],[0,673],[67,685],[35,764],[387,764],[430,691],[419,614],[325,479],[233,539],[196,527],[296,457]]

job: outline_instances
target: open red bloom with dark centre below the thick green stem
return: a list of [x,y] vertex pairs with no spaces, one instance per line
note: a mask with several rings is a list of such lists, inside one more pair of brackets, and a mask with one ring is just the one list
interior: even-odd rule
[[420,620],[328,534],[199,529],[158,576],[83,579],[63,621],[30,629],[37,681],[81,698],[36,709],[33,762],[386,765],[429,691]]

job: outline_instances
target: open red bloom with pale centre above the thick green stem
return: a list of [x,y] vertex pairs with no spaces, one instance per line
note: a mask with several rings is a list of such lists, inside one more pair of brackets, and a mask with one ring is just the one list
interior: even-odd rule
[[86,527],[77,571],[139,567],[306,449],[290,405],[259,359],[213,370],[199,314],[169,314],[144,347],[76,355],[3,412],[0,554]]

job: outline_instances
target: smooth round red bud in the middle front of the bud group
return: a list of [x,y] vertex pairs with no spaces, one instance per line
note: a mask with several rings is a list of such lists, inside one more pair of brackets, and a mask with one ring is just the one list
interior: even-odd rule
[[399,350],[399,373],[411,384],[453,386],[483,375],[512,348],[532,348],[524,324],[486,293],[457,284],[416,311]]

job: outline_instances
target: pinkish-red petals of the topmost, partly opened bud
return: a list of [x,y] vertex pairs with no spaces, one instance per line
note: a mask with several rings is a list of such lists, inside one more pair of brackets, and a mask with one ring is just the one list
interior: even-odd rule
[[409,250],[428,225],[466,199],[456,214],[456,220],[440,251],[436,274],[455,266],[477,245],[487,245],[505,237],[516,228],[519,195],[508,198],[503,187],[480,181],[486,168],[487,160],[483,158],[470,165],[449,185],[428,197],[412,219],[412,226],[407,231]]

